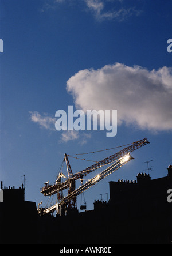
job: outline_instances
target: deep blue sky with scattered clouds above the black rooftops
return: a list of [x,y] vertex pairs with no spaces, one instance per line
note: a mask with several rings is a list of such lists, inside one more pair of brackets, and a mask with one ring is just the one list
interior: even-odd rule
[[[92,152],[147,137],[150,145],[85,193],[88,209],[107,198],[111,180],[135,180],[151,164],[153,178],[172,164],[171,0],[1,0],[1,161],[5,186],[45,201],[40,187],[53,180],[64,153]],[[103,79],[101,79],[103,77]],[[118,133],[62,133],[57,110],[118,111]],[[89,155],[100,160],[112,152]],[[88,162],[71,159],[73,172]],[[54,181],[54,180],[53,180]],[[80,200],[78,202],[80,206]]]

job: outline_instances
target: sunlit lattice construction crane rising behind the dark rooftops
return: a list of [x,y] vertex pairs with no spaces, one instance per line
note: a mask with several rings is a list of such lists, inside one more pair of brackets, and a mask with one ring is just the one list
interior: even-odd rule
[[[45,186],[42,187],[41,189],[41,193],[44,194],[46,197],[48,196],[51,197],[52,195],[57,194],[57,201],[56,201],[56,204],[54,204],[53,206],[50,206],[49,208],[45,208],[45,209],[38,208],[38,214],[40,215],[50,214],[56,210],[57,214],[61,215],[62,212],[64,212],[67,209],[76,209],[76,198],[78,195],[83,193],[85,190],[88,190],[92,186],[96,185],[96,183],[100,182],[101,180],[106,178],[108,175],[112,174],[113,172],[118,170],[120,167],[122,167],[123,165],[127,164],[129,161],[134,159],[130,155],[130,153],[149,143],[150,142],[148,142],[147,138],[144,138],[143,140],[140,140],[140,141],[133,142],[127,148],[124,148],[123,150],[120,150],[114,155],[111,155],[101,161],[96,162],[95,164],[85,168],[83,171],[77,172],[76,174],[73,174],[72,172],[72,168],[68,159],[69,155],[65,154],[63,161],[67,165],[68,178],[65,180],[65,182],[61,182],[61,178],[64,176],[64,174],[60,172],[58,174],[57,180],[54,183],[54,185],[49,185],[49,182],[45,183]],[[101,171],[94,178],[88,180],[83,185],[84,176],[107,164],[111,164],[111,165],[105,168],[104,171]],[[76,189],[76,179],[80,179],[82,183],[82,185],[78,189]],[[68,190],[68,195],[66,197],[63,197],[62,191],[65,189]]]

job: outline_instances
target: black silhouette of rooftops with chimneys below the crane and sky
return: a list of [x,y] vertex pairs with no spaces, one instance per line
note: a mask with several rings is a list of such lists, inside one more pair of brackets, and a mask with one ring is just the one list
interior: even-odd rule
[[4,198],[0,204],[1,241],[6,244],[171,244],[172,203],[167,202],[167,190],[172,189],[172,166],[163,178],[152,180],[150,175],[138,174],[136,179],[110,182],[110,200],[95,201],[93,210],[56,217],[38,217],[35,203],[24,201],[23,187],[1,186]]

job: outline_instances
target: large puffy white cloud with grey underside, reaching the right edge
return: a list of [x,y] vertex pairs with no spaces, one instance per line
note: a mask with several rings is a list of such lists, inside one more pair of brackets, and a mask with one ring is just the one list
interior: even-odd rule
[[76,107],[118,110],[118,125],[172,130],[172,68],[148,71],[121,63],[81,70],[67,82]]

